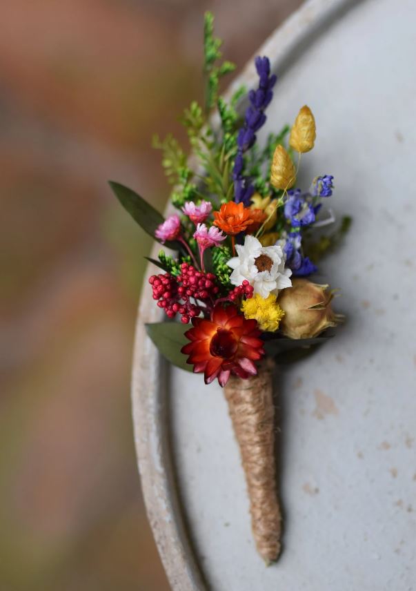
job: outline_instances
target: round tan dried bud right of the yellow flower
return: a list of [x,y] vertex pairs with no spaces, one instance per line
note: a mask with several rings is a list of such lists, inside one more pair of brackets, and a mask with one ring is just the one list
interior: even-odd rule
[[335,314],[331,302],[334,291],[307,279],[293,279],[292,287],[279,292],[279,306],[284,310],[281,332],[288,338],[314,338],[344,318]]

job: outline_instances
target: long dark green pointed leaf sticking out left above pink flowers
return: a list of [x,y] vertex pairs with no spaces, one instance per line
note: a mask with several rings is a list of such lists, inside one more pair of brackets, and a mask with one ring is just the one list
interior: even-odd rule
[[[128,188],[115,181],[109,181],[112,191],[115,193],[117,199],[124,209],[130,213],[133,220],[139,224],[141,229],[155,238],[155,231],[160,224],[163,224],[164,216],[159,213],[154,207],[148,204],[147,201],[140,197],[131,188]],[[157,238],[155,238],[157,240]],[[160,242],[157,240],[157,242]],[[179,250],[181,245],[179,242],[165,242],[168,249]]]

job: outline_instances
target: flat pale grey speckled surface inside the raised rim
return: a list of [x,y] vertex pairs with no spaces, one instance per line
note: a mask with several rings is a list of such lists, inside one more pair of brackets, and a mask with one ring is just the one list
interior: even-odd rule
[[[252,542],[221,389],[172,369],[179,494],[215,591],[416,589],[415,18],[411,0],[368,0],[332,22],[304,9],[312,42],[277,60],[266,130],[308,104],[317,142],[299,184],[335,175],[332,205],[354,217],[322,267],[348,324],[279,379],[286,531],[270,568]],[[299,19],[293,27],[296,37]],[[268,48],[278,53],[277,41]]]

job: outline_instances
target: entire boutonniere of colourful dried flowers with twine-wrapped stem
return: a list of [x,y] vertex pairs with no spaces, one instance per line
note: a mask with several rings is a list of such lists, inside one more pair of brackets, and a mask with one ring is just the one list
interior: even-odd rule
[[[203,109],[192,102],[182,119],[198,166],[190,167],[171,135],[163,142],[155,138],[178,213],[164,220],[134,191],[110,185],[139,225],[173,251],[149,259],[163,271],[149,283],[167,321],[148,324],[148,335],[174,365],[224,387],[246,473],[253,535],[270,563],[279,556],[281,537],[273,367],[317,349],[330,337],[326,329],[342,320],[332,308],[335,291],[307,278],[350,219],[314,242],[315,229],[335,217],[330,210],[321,215],[333,194],[331,175],[315,177],[306,192],[294,188],[301,154],[315,144],[313,113],[302,107],[291,128],[270,133],[260,148],[256,133],[266,122],[276,76],[267,57],[255,59],[259,83],[241,117],[237,104],[244,88],[229,102],[219,96],[219,80],[235,68],[219,63],[220,46],[207,13],[206,104]],[[212,124],[213,108],[219,125]],[[180,322],[171,321],[178,317]]]

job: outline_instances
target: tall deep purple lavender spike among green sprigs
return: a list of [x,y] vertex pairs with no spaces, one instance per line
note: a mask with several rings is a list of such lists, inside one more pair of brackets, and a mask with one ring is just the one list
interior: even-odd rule
[[237,155],[235,157],[232,178],[234,180],[234,200],[236,203],[243,202],[250,204],[250,199],[255,189],[250,180],[243,176],[244,152],[255,144],[256,132],[266,122],[264,110],[273,99],[273,86],[275,86],[275,74],[270,76],[270,61],[268,57],[256,57],[255,66],[259,75],[259,87],[257,90],[250,90],[248,99],[250,106],[246,109],[244,126],[237,135]]

